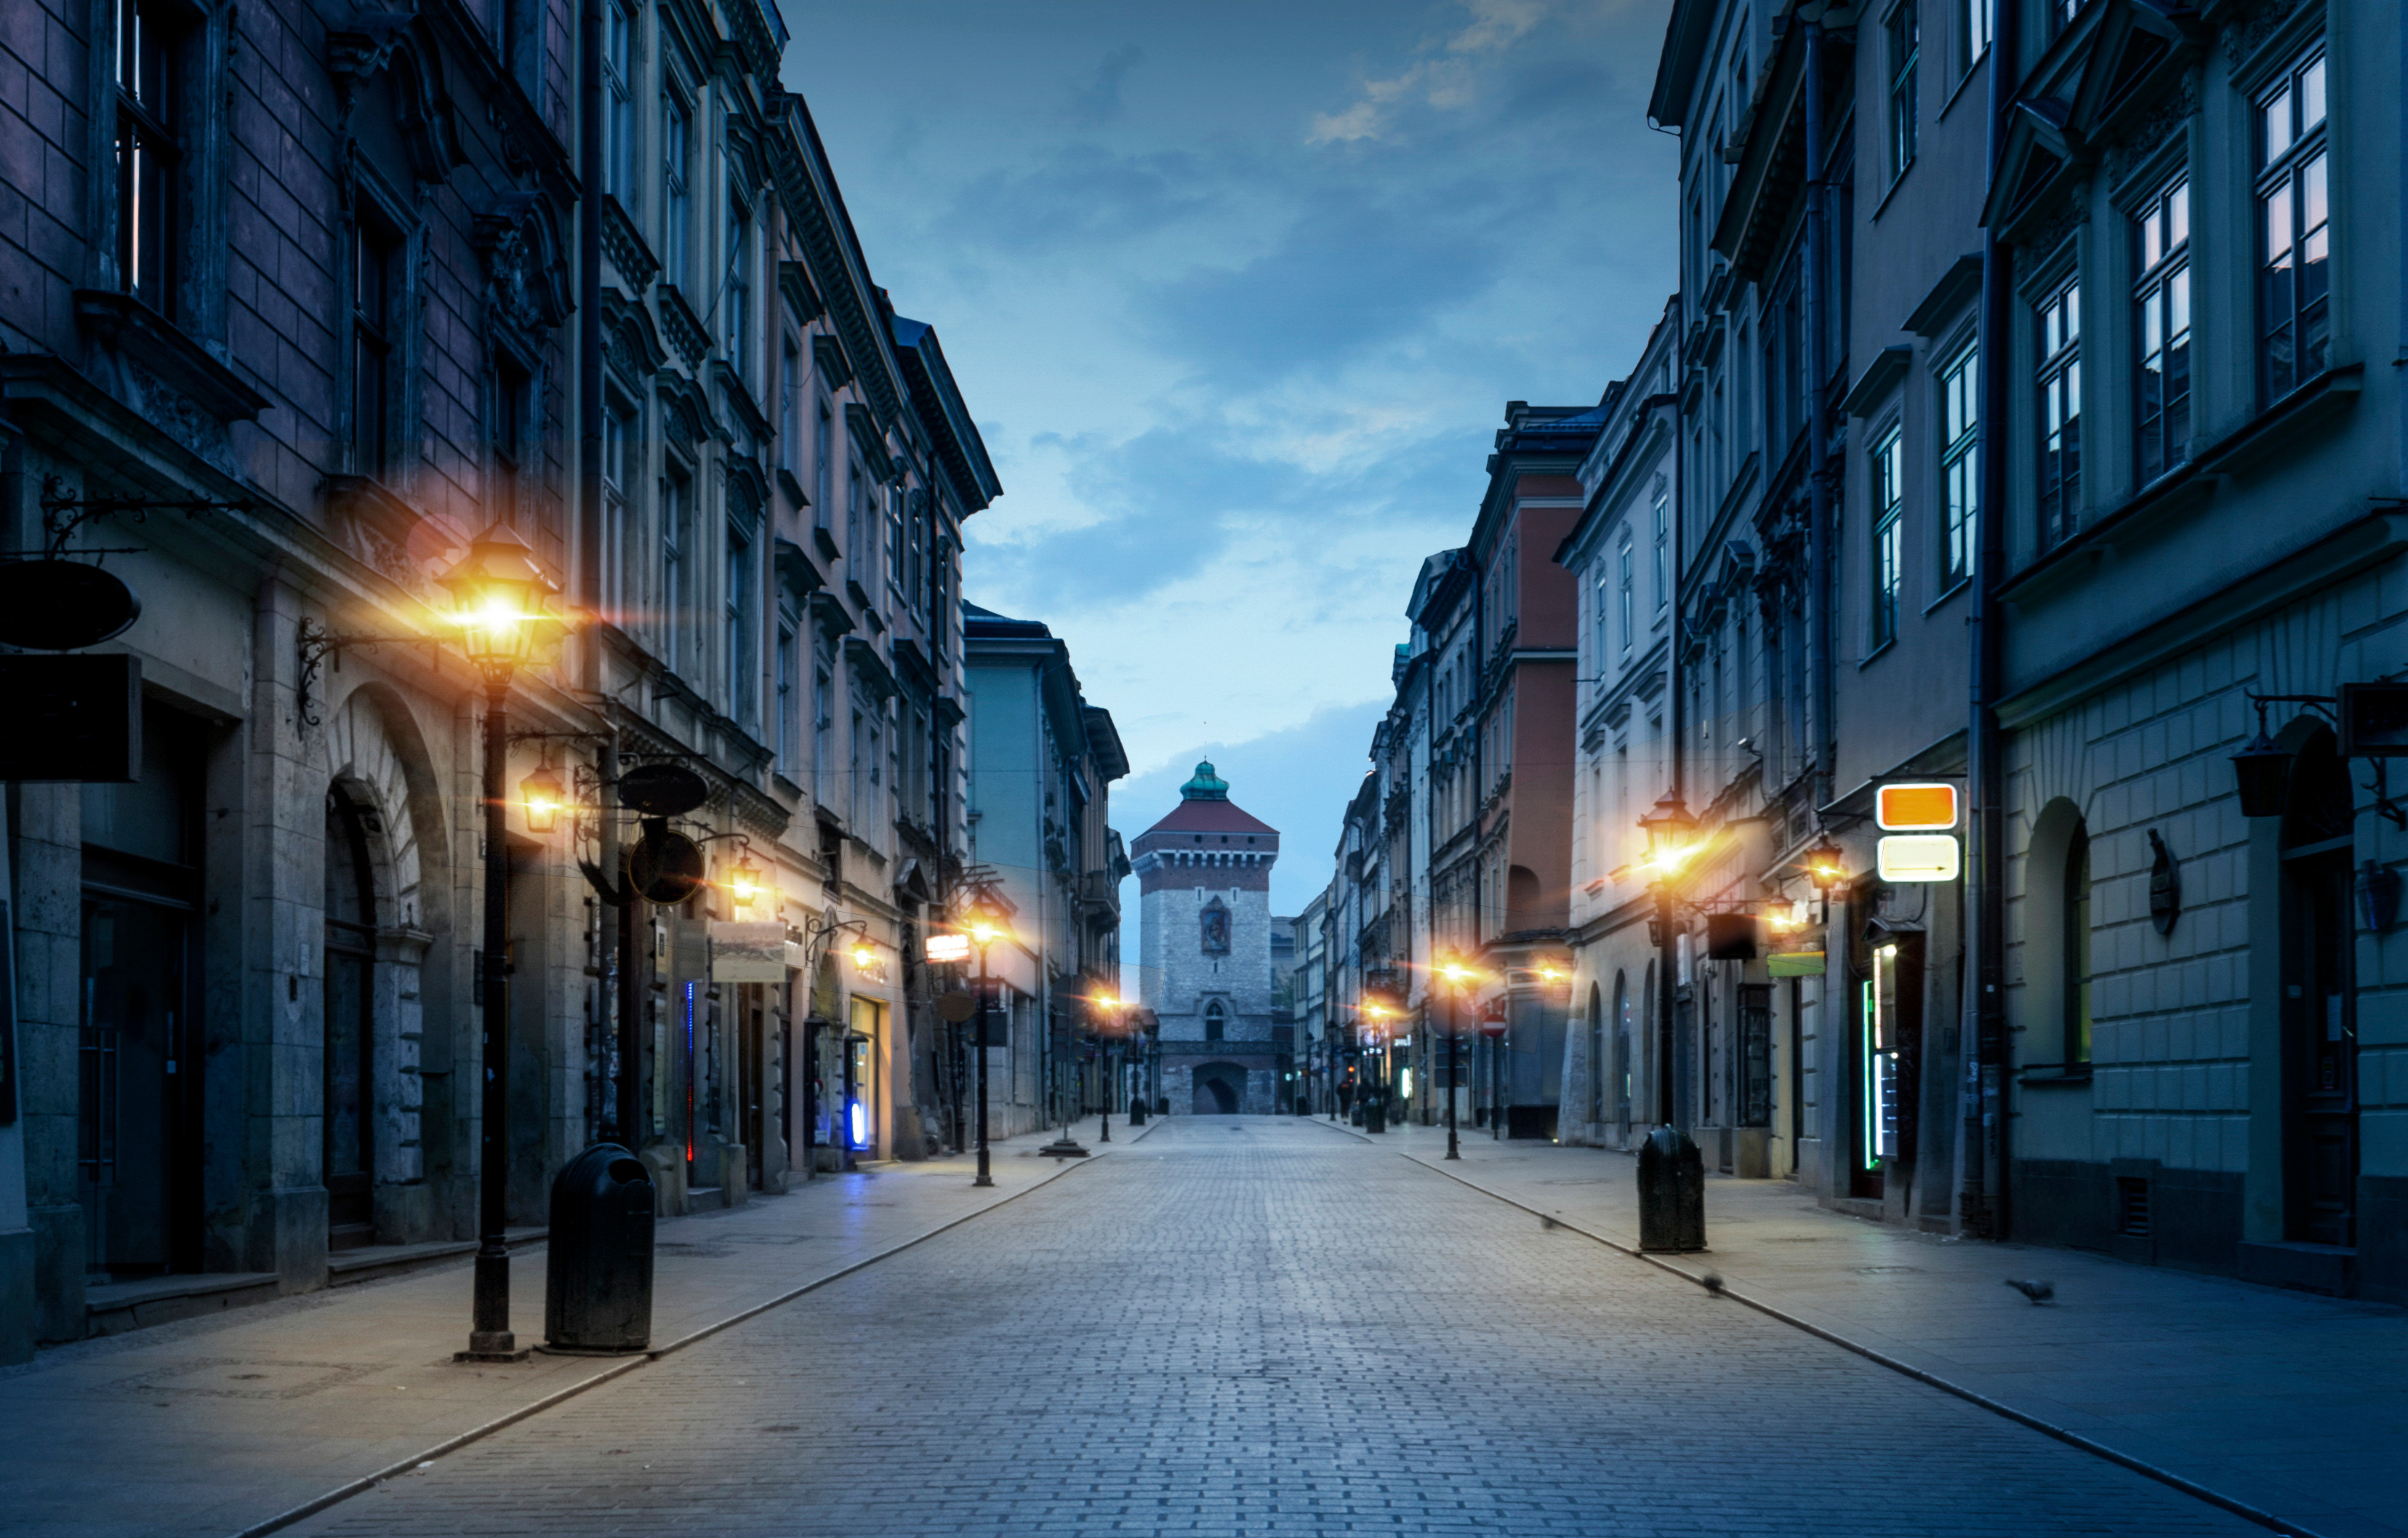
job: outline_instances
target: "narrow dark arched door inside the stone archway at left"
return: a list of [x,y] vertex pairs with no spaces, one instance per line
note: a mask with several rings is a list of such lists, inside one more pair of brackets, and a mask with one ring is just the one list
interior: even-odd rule
[[376,1242],[376,866],[368,811],[325,797],[325,1247]]

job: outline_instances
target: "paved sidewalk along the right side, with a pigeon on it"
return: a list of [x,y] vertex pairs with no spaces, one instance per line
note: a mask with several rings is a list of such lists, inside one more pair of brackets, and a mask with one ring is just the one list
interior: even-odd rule
[[[1625,1153],[1462,1129],[1450,1165],[1442,1126],[1375,1141],[1637,1249]],[[1902,1232],[1780,1179],[1707,1175],[1705,1240],[1707,1254],[1662,1259],[2321,1538],[2408,1536],[2408,1309]],[[2035,1307],[2006,1278],[2049,1280],[2056,1297]],[[1943,1471],[1946,1449],[1934,1456]]]

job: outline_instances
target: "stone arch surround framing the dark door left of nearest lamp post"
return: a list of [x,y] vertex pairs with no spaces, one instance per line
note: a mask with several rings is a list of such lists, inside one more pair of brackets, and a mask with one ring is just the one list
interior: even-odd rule
[[340,922],[344,939],[373,956],[361,965],[359,1047],[371,1105],[364,1141],[373,1150],[376,1237],[421,1240],[431,1237],[436,1220],[426,1187],[426,1110],[436,1110],[433,1122],[441,1124],[441,1110],[424,1105],[426,1081],[419,1073],[421,968],[450,907],[436,876],[443,869],[443,821],[438,809],[429,814],[433,765],[407,705],[388,688],[366,684],[327,710],[325,775],[327,826],[352,833],[344,852],[323,845],[325,859],[342,854],[342,864],[364,866],[356,871],[356,912],[325,917],[332,919],[330,939]]

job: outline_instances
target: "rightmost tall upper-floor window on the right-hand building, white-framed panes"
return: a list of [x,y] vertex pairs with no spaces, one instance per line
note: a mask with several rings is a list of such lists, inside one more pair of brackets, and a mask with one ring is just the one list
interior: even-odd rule
[[2331,229],[2324,178],[2324,51],[2259,99],[2259,368],[2266,400],[2324,373]]

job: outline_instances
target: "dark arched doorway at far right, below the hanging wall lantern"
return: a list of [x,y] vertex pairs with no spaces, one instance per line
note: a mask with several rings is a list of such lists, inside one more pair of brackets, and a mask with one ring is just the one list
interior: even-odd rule
[[2357,1242],[2357,1001],[2350,770],[2316,732],[2283,809],[2283,1235]]

